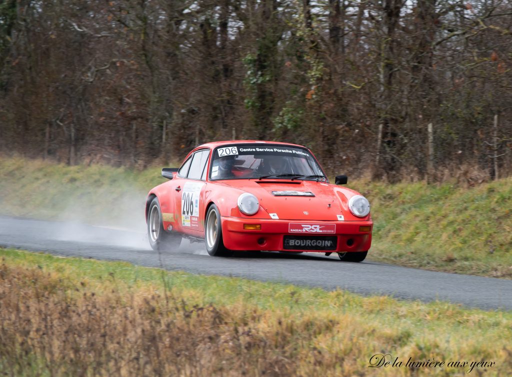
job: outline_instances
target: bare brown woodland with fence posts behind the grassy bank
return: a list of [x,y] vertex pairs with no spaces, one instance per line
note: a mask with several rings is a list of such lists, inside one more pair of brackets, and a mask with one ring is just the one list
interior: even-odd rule
[[2,0],[0,153],[145,167],[267,139],[329,174],[498,178],[511,30],[509,0]]

